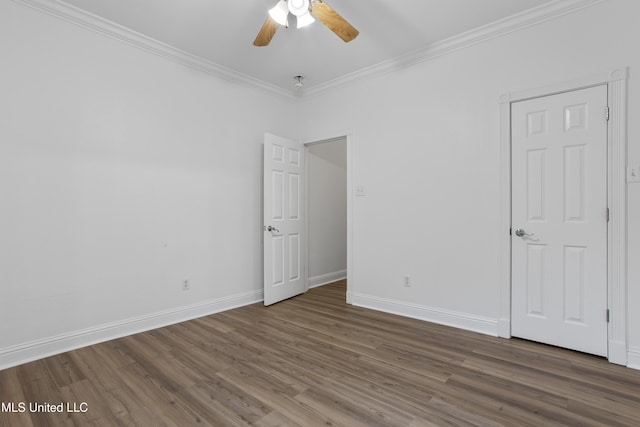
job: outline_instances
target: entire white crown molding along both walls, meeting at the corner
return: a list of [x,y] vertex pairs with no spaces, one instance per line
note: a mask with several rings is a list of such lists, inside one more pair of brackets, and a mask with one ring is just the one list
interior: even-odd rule
[[578,10],[602,3],[607,0],[556,0],[488,25],[464,32],[448,39],[430,44],[378,64],[362,68],[355,72],[330,80],[326,83],[305,88],[303,94],[294,94],[271,83],[239,73],[228,67],[208,61],[197,55],[177,49],[159,42],[151,37],[140,34],[129,28],[86,12],[61,0],[12,0],[32,9],[44,12],[56,18],[82,26],[96,33],[127,43],[148,53],[160,56],[202,71],[231,83],[254,87],[271,94],[287,98],[304,98],[321,94],[332,89],[347,85],[354,81],[375,78],[412,65],[456,52],[478,43],[500,37],[533,25],[564,16]]

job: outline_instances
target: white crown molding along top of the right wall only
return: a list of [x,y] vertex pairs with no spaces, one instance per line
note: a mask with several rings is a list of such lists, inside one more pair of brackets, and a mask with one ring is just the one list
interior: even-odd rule
[[607,0],[556,0],[307,88],[305,96],[321,94],[354,81],[398,71],[605,1]]

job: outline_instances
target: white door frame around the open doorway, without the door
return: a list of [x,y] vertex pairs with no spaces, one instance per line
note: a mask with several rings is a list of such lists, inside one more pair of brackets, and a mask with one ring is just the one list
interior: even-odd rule
[[[305,137],[301,138],[300,142],[304,145],[304,155],[308,156],[308,147],[314,144],[320,144],[323,142],[330,142],[336,139],[345,139],[347,141],[347,304],[353,304],[353,294],[355,293],[355,280],[354,280],[354,270],[353,270],[353,185],[352,185],[352,177],[353,177],[353,131],[351,129],[339,130],[333,132],[327,132],[320,135],[315,135],[313,137]],[[305,158],[305,182],[308,186],[309,184],[309,176],[308,176],[308,167],[309,162],[308,158]],[[305,192],[308,193],[308,187],[305,187]],[[309,199],[307,197],[305,210],[308,213],[308,203]],[[305,214],[305,225],[304,227],[307,234],[309,233],[309,215]],[[309,239],[307,239],[307,247],[305,248],[307,253],[306,262],[309,262]],[[307,274],[306,277],[306,290],[309,290],[309,277],[308,265],[305,266],[305,271]]]

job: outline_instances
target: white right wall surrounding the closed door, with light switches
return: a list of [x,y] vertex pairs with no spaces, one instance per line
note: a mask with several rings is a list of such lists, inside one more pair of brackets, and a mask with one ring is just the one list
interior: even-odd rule
[[[605,1],[302,101],[301,135],[353,130],[353,185],[367,189],[353,200],[355,302],[497,333],[499,97],[629,66],[628,160],[640,164],[638,16],[635,0]],[[627,214],[640,366],[640,184]]]

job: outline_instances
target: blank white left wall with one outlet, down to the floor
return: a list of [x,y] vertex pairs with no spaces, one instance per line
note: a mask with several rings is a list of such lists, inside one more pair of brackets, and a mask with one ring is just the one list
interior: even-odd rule
[[0,369],[262,298],[290,100],[9,0],[0,52]]

